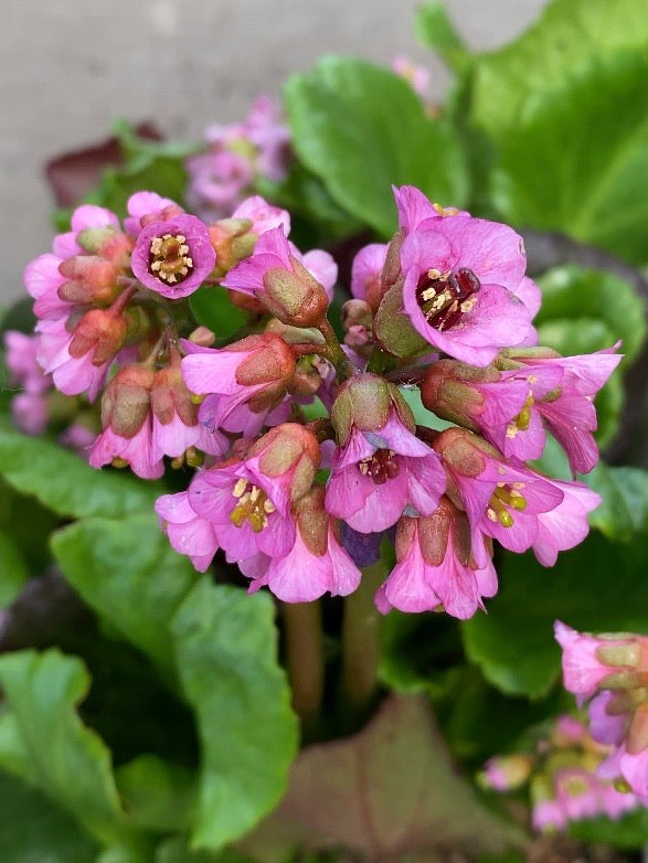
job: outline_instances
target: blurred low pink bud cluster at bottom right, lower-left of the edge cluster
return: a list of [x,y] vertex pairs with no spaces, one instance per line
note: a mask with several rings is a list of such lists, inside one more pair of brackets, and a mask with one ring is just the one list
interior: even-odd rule
[[640,800],[601,774],[610,750],[581,720],[563,715],[534,752],[490,758],[479,780],[500,792],[528,786],[535,830],[562,831],[572,821],[595,816],[616,821],[640,806]]

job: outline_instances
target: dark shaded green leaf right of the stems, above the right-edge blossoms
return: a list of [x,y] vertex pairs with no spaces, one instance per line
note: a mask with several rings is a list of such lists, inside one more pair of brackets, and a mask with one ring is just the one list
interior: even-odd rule
[[554,620],[578,630],[648,630],[648,543],[612,543],[599,534],[559,555],[553,568],[531,554],[504,553],[500,590],[461,625],[468,658],[513,695],[541,697],[560,675]]

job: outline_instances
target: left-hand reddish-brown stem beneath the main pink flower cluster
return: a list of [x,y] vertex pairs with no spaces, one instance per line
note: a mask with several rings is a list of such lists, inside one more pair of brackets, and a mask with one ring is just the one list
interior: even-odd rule
[[310,736],[319,722],[323,695],[321,607],[315,603],[284,603],[284,625],[293,707],[301,733]]

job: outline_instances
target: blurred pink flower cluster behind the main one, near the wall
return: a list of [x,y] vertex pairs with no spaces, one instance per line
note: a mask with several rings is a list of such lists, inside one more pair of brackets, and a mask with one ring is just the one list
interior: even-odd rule
[[205,221],[226,217],[257,177],[280,182],[290,162],[290,132],[279,106],[262,96],[243,122],[210,126],[206,149],[187,160],[187,200]]

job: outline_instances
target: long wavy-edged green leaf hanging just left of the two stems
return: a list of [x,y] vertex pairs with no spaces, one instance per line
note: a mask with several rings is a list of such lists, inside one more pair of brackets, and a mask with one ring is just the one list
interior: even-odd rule
[[277,663],[265,594],[196,584],[172,625],[178,669],[202,744],[192,845],[217,850],[283,795],[297,748],[290,691]]

